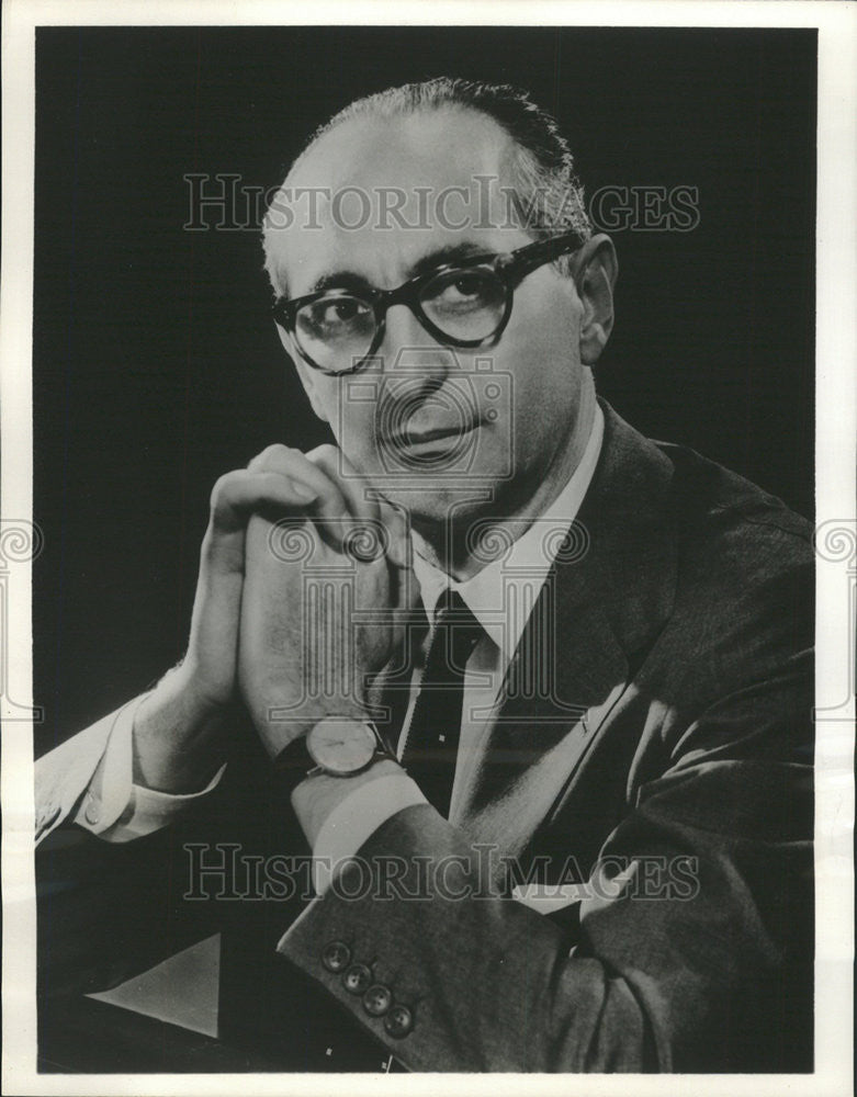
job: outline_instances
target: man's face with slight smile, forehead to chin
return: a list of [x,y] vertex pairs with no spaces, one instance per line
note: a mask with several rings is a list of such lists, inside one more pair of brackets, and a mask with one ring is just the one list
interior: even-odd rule
[[[290,297],[313,293],[323,280],[326,287],[388,290],[467,250],[508,252],[531,244],[508,216],[496,182],[486,205],[477,179],[505,183],[508,149],[499,126],[472,111],[343,124],[287,181],[295,193],[329,188],[340,201],[318,201],[318,227],[298,216],[271,233],[281,284]],[[369,217],[358,190],[371,203]],[[398,220],[380,208],[391,202],[380,197],[383,190],[406,196]],[[286,349],[346,456],[417,525],[448,521],[453,507],[456,520],[462,510],[501,517],[555,475],[575,444],[582,314],[572,279],[546,264],[517,286],[510,320],[487,348],[451,348],[407,306],[394,305],[367,370],[328,376]]]

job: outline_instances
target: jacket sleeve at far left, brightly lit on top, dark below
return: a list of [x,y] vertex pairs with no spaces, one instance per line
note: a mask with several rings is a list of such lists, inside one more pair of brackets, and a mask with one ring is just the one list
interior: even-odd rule
[[[72,736],[36,762],[36,905],[40,996],[106,989],[218,928],[214,904],[183,902],[183,842],[199,837],[218,807],[148,837],[112,844],[99,827],[114,822],[123,795],[93,796],[117,722],[135,702]],[[89,798],[88,798],[89,794]],[[113,801],[113,803],[111,803]],[[95,808],[92,818],[84,814]],[[97,826],[90,827],[91,822]]]

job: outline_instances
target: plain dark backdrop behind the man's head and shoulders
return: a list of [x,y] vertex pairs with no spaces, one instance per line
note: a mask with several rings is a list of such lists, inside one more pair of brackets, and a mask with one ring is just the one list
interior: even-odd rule
[[217,476],[325,437],[268,313],[258,233],[183,230],[183,176],[270,188],[351,99],[441,73],[529,89],[590,194],[699,188],[692,231],[614,234],[600,392],[812,516],[814,31],[41,29],[40,751],[180,657]]

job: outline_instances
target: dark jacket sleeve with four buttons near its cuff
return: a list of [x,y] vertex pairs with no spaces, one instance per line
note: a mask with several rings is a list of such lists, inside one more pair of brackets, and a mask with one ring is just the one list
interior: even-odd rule
[[686,726],[578,921],[486,893],[480,851],[422,805],[279,951],[415,1071],[787,1068],[812,1030],[811,667],[804,653]]

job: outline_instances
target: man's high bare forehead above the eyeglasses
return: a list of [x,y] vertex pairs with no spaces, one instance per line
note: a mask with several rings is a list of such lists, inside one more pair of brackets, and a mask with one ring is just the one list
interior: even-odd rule
[[469,110],[338,126],[286,180],[292,216],[268,235],[281,286],[298,296],[348,272],[391,287],[444,248],[506,251],[528,242],[499,190],[512,148],[500,126]]

